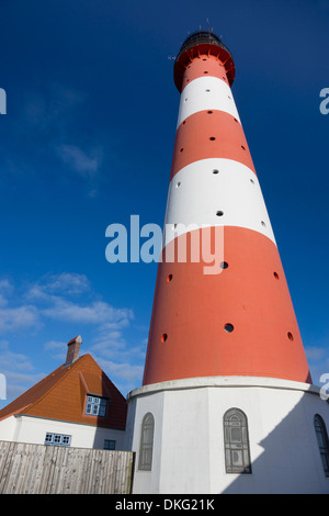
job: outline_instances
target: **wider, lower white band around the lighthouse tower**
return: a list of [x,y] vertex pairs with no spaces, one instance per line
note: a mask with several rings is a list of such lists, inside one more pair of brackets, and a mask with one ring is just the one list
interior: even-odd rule
[[191,224],[245,227],[275,243],[257,176],[246,165],[231,159],[194,161],[171,179],[166,243]]

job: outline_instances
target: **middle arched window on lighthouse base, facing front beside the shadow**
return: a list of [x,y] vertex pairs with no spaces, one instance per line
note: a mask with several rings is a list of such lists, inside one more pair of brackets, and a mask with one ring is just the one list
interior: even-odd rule
[[248,422],[239,408],[224,414],[226,473],[251,473]]

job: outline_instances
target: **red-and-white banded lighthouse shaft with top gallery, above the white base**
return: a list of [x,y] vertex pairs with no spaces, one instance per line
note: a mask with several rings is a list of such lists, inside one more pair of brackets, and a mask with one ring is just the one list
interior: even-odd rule
[[[229,51],[213,34],[186,40],[175,60],[181,92],[144,385],[247,375],[310,382],[270,218],[230,86]],[[166,261],[180,239],[224,231],[220,273]],[[170,231],[172,234],[170,235]],[[200,242],[202,238],[200,238]],[[188,246],[189,250],[189,246]],[[201,254],[200,254],[201,255]]]

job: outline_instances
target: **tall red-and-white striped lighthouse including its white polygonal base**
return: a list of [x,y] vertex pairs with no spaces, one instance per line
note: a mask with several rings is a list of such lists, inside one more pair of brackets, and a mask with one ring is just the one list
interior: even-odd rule
[[188,37],[174,63],[181,99],[144,381],[128,395],[135,493],[329,493],[329,408],[311,383],[234,79],[215,34]]

